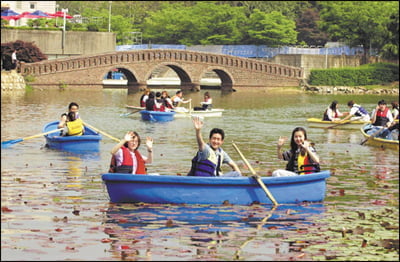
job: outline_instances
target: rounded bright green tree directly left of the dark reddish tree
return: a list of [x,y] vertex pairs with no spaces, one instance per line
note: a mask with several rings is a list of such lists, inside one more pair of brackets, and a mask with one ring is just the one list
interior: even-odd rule
[[296,25],[280,12],[264,13],[254,9],[249,18],[249,41],[257,45],[291,45],[297,41]]

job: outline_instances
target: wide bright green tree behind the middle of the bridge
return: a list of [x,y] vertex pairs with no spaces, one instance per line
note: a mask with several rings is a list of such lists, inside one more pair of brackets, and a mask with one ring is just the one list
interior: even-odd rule
[[240,28],[246,17],[240,8],[197,2],[165,4],[150,12],[143,25],[143,38],[163,44],[229,44],[238,43]]

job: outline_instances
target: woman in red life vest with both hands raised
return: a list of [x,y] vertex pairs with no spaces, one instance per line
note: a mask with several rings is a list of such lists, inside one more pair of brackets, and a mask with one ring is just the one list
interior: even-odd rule
[[129,131],[123,139],[111,149],[110,173],[147,174],[146,164],[153,162],[153,139],[146,138],[147,157],[139,152],[140,136]]

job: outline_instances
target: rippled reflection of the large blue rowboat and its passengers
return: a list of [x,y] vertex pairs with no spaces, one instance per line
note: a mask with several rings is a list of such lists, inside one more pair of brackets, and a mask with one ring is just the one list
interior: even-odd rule
[[307,203],[272,208],[110,204],[102,228],[109,235],[114,256],[128,260],[156,259],[160,243],[166,250],[180,246],[176,251],[181,259],[196,255],[197,259],[210,260],[226,252],[234,255],[225,259],[240,259],[250,246],[255,248],[255,243],[260,245],[257,252],[263,255],[290,252],[287,244],[275,243],[275,232],[306,227],[312,223],[311,217],[315,219],[324,210],[322,204]]

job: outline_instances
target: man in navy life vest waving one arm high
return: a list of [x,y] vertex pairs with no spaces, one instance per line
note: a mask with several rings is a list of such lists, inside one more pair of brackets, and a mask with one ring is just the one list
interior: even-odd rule
[[[225,138],[224,130],[220,128],[211,129],[209,142],[206,143],[201,135],[203,121],[200,117],[194,117],[192,120],[196,131],[198,152],[192,159],[192,167],[188,176],[242,176],[239,167],[221,148]],[[233,171],[223,174],[221,171],[222,164],[228,164]]]

